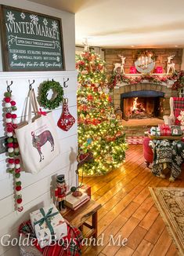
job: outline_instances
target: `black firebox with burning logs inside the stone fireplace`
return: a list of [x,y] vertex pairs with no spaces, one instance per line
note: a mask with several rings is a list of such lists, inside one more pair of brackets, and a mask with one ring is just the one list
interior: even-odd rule
[[122,118],[162,118],[164,93],[153,90],[139,90],[121,94]]

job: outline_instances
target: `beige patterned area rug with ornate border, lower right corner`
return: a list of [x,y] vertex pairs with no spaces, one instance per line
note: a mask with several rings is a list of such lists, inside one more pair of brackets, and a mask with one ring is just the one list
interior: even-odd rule
[[184,188],[150,188],[150,193],[179,255],[184,255]]

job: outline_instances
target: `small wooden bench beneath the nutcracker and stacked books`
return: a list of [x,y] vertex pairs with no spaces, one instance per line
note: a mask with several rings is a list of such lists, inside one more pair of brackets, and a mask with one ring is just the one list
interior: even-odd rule
[[[84,234],[86,238],[97,238],[97,212],[101,207],[101,204],[90,199],[87,203],[78,208],[78,210],[68,209],[66,214],[63,214],[63,218],[65,218],[71,225],[74,225],[74,227],[80,229],[81,232],[83,232],[83,226],[86,226],[89,229],[89,231]],[[89,218],[91,217],[91,223],[86,222],[89,221]]]

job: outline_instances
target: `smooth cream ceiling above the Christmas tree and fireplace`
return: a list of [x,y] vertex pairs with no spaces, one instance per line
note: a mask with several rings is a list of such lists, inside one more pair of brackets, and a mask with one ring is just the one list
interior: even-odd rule
[[30,0],[75,13],[76,45],[184,48],[183,0]]

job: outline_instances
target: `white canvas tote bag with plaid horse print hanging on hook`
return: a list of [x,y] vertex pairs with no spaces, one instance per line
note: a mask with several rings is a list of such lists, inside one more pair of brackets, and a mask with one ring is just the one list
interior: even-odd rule
[[[15,133],[24,170],[37,174],[60,154],[60,144],[52,112],[38,115],[38,104],[34,90],[29,91],[27,106],[28,122],[24,120],[15,130]],[[25,112],[27,112],[26,108]],[[33,118],[31,116],[32,111],[34,111]]]

